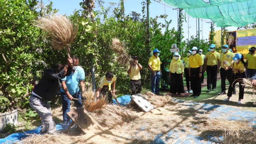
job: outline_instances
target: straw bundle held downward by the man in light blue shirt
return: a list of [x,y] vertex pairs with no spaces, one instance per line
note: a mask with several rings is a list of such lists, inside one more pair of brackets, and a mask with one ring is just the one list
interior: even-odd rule
[[85,97],[84,109],[89,112],[103,109],[106,104],[106,99],[104,97],[95,101],[94,93],[93,85],[89,83],[85,88],[85,92],[83,93]]

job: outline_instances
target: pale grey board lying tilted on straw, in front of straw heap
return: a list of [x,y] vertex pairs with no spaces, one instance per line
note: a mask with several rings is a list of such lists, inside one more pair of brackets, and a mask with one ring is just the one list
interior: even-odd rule
[[140,93],[132,95],[131,99],[141,108],[143,112],[148,112],[155,109],[155,107],[150,102],[148,102]]

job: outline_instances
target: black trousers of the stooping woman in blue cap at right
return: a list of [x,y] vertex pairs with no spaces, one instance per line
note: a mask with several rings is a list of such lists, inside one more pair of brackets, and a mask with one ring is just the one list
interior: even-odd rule
[[[241,73],[242,78],[245,77],[245,72]],[[234,77],[234,74],[233,74]],[[233,88],[236,86],[236,83],[239,83],[239,99],[244,99],[244,86],[242,86],[243,81],[239,79],[233,79],[232,83],[228,87],[228,97],[232,97]]]

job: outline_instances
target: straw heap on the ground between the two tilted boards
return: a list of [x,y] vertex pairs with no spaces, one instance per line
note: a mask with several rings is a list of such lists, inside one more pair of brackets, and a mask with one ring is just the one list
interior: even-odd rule
[[107,127],[122,125],[139,118],[131,109],[115,104],[108,104],[104,109],[96,110],[90,114],[101,126]]

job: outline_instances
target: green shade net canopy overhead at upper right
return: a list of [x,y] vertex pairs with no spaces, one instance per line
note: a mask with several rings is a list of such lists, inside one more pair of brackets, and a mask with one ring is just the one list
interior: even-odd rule
[[162,0],[191,17],[211,19],[218,27],[256,23],[256,0]]

